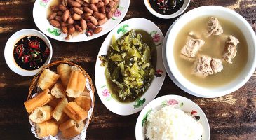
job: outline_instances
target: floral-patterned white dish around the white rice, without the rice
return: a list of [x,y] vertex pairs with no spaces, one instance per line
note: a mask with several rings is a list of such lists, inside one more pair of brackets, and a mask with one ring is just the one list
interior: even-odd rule
[[147,115],[151,109],[159,110],[163,106],[174,106],[175,108],[181,109],[184,112],[191,113],[192,116],[199,116],[199,121],[203,125],[202,140],[210,139],[210,126],[206,118],[206,114],[203,113],[202,109],[196,103],[185,97],[177,95],[166,95],[154,99],[140,112],[135,127],[135,136],[137,140],[144,140],[146,138],[145,122],[147,121]]

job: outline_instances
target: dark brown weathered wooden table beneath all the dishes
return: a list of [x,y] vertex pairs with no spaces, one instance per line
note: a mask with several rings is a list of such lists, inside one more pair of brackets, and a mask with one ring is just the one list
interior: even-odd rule
[[[191,0],[188,10],[198,6],[218,5],[243,15],[256,31],[256,1],[252,0]],[[19,76],[8,68],[4,60],[4,46],[8,38],[20,29],[38,29],[34,24],[34,0],[0,1],[0,139],[36,139],[30,132],[23,102],[27,99],[31,77]],[[130,0],[124,20],[147,18],[159,26],[163,34],[175,19],[162,20],[151,15],[142,0]],[[64,43],[50,38],[53,45],[52,62],[68,60],[82,66],[94,78],[95,61],[105,37],[81,43]],[[241,89],[224,97],[203,99],[180,90],[166,75],[157,97],[179,94],[187,97],[206,113],[211,139],[256,139],[256,73]],[[118,116],[109,111],[95,92],[95,111],[88,127],[88,139],[135,139],[135,123],[139,113]]]

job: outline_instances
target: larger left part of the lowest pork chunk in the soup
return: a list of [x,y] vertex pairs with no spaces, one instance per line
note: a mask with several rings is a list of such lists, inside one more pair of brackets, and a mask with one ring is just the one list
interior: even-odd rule
[[206,55],[201,55],[197,57],[195,62],[194,74],[201,77],[206,77],[208,75],[213,74],[213,69],[210,66],[210,62],[212,61],[211,57]]

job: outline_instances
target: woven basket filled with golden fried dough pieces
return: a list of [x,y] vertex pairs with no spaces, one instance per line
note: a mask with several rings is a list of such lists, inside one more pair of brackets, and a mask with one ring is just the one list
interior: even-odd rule
[[92,80],[81,66],[53,62],[34,76],[24,105],[36,138],[85,139],[94,101]]

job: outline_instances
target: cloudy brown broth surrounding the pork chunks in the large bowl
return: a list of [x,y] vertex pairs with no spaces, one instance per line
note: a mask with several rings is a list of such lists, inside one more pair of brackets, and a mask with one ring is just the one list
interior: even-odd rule
[[[248,45],[246,43],[245,36],[243,36],[243,33],[240,31],[240,29],[238,29],[238,27],[236,27],[236,25],[234,25],[232,22],[218,18],[224,33],[220,36],[210,36],[206,38],[204,37],[204,34],[206,34],[206,27],[209,19],[210,17],[208,16],[201,17],[187,23],[187,25],[182,28],[182,30],[177,35],[177,38],[175,39],[173,54],[177,68],[179,69],[180,73],[182,73],[184,78],[187,78],[187,80],[189,80],[191,83],[201,87],[217,87],[230,83],[241,73],[241,71],[243,71],[243,68],[248,61]],[[212,76],[207,76],[206,78],[201,78],[192,74],[191,72],[194,68],[194,61],[187,61],[180,57],[180,50],[182,50],[184,44],[187,41],[189,31],[193,31],[196,35],[198,35],[198,38],[206,41],[206,43],[197,54],[208,55],[218,59],[222,59],[227,36],[233,35],[238,38],[240,43],[237,45],[236,57],[232,59],[233,64],[228,64],[222,59],[222,72]]]

